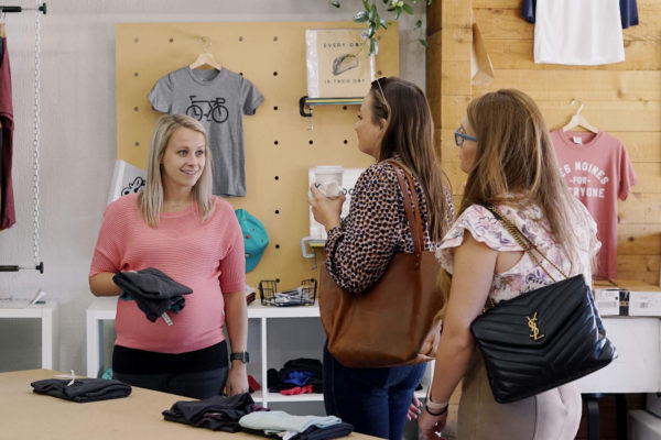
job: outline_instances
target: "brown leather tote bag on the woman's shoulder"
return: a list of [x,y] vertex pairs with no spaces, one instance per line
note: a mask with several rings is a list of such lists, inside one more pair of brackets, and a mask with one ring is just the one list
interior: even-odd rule
[[[412,254],[398,253],[383,276],[367,292],[351,294],[337,286],[326,266],[319,276],[319,311],[328,351],[349,367],[398,366],[434,358],[441,337],[443,307],[436,284],[438,262],[423,251],[422,222],[411,176],[393,163],[413,237]],[[360,264],[360,262],[356,262]]]

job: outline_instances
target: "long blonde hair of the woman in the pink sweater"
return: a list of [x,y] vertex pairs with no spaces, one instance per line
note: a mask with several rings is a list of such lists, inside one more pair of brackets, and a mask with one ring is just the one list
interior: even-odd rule
[[159,218],[163,209],[163,177],[161,162],[172,134],[178,129],[188,129],[202,133],[204,136],[205,164],[202,175],[193,186],[193,200],[197,205],[201,221],[205,221],[214,211],[212,194],[212,153],[204,127],[195,119],[185,114],[164,114],[154,125],[149,145],[149,164],[147,169],[147,184],[138,195],[138,207],[147,224],[152,228],[159,226]]

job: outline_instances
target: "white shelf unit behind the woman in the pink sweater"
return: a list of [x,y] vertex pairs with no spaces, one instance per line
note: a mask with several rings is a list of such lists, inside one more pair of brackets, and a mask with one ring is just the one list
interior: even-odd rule
[[[96,377],[104,365],[104,329],[102,321],[115,320],[117,308],[117,297],[95,298],[91,305],[87,308],[87,376]],[[305,320],[307,318],[307,322]],[[268,407],[273,403],[312,403],[323,402],[324,396],[318,393],[301,394],[294,396],[285,396],[280,393],[269,393],[267,386],[268,370],[270,367],[281,369],[277,355],[280,354],[282,360],[296,359],[300,356],[292,355],[296,346],[291,346],[288,350],[286,343],[291,341],[282,341],[282,343],[269,343],[269,327],[275,327],[286,319],[286,326],[291,327],[294,337],[312,337],[314,345],[318,350],[314,359],[322,358],[324,344],[323,330],[321,330],[319,308],[318,306],[305,307],[270,307],[262,306],[259,299],[256,299],[248,306],[248,346],[251,354],[251,363],[249,364],[248,373],[256,376],[256,380],[262,386],[262,389],[252,394],[252,398],[261,405]],[[258,327],[257,330],[253,330]],[[272,329],[273,330],[273,329]],[[275,333],[272,331],[272,333]],[[259,336],[259,338],[258,338]],[[280,342],[280,341],[278,341]],[[290,352],[291,351],[291,352]],[[269,362],[271,361],[271,362]],[[256,371],[257,370],[257,371]],[[427,369],[425,374],[425,384],[429,383],[427,377],[433,369]],[[257,373],[257,374],[256,374]],[[257,377],[259,376],[259,377]],[[419,398],[424,398],[426,395],[426,386],[424,389],[416,392]]]

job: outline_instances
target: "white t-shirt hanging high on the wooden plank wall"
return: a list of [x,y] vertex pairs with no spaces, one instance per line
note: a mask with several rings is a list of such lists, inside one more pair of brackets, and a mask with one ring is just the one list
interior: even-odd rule
[[595,66],[625,61],[619,0],[537,0],[534,62]]

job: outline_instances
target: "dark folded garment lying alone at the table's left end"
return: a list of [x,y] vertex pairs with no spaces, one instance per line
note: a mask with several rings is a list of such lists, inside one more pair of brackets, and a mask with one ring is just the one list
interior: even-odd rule
[[127,397],[131,394],[131,386],[121,381],[108,378],[77,378],[68,385],[71,380],[45,378],[31,383],[33,392],[47,394],[66,400],[78,403],[108,400]]

